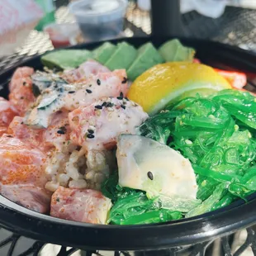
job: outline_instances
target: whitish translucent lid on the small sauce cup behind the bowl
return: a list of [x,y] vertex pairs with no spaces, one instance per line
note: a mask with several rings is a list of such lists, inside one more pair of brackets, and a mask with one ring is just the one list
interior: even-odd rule
[[69,12],[79,22],[102,23],[124,17],[127,0],[79,0],[69,4]]

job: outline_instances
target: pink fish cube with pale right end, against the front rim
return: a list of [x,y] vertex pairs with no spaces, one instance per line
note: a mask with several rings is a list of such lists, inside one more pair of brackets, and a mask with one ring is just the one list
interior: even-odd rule
[[106,224],[111,200],[92,189],[59,187],[51,197],[50,216],[93,224]]

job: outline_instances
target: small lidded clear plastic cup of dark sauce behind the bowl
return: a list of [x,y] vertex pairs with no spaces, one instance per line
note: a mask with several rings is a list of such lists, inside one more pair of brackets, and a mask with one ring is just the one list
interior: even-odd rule
[[88,40],[118,37],[123,31],[127,0],[79,0],[69,4],[83,36]]

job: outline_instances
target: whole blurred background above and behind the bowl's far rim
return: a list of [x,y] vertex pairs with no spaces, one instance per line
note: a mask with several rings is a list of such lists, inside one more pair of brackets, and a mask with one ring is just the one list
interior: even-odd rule
[[152,31],[256,52],[255,0],[0,0],[0,7],[1,70],[54,48]]

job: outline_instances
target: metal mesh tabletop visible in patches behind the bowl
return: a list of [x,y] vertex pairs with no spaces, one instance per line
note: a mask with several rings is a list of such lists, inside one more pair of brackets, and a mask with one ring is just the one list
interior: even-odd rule
[[[55,13],[57,23],[75,22],[67,7],[59,7]],[[210,39],[225,44],[237,45],[256,52],[256,10],[241,7],[226,7],[225,13],[212,19],[199,13],[187,12],[182,15],[185,36]],[[147,36],[151,34],[149,12],[141,11],[130,2],[126,12],[125,36]],[[17,64],[32,55],[53,50],[49,36],[44,32],[31,31],[25,43],[13,55],[0,59],[0,70]],[[1,73],[0,72],[0,73]]]

